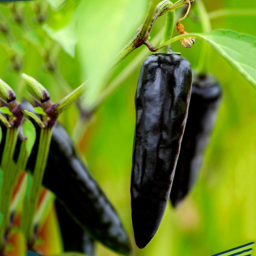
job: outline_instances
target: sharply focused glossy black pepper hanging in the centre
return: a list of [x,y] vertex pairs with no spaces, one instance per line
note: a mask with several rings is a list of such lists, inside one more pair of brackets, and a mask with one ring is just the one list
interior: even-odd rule
[[131,175],[133,230],[144,248],[159,228],[172,187],[187,120],[192,72],[187,59],[153,54],[142,64],[136,89]]

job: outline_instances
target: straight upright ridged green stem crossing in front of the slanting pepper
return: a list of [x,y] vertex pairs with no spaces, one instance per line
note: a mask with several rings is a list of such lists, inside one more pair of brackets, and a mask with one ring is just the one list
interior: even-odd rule
[[44,175],[44,169],[46,167],[48,153],[50,149],[50,142],[52,138],[52,128],[46,127],[41,129],[39,140],[39,151],[37,153],[37,160],[35,163],[35,169],[33,172],[33,181],[31,185],[31,191],[29,193],[29,207],[25,209],[23,214],[27,216],[27,223],[25,228],[25,236],[29,244],[33,243],[34,230],[33,222],[35,216],[35,210],[37,208],[37,202],[39,199],[39,192],[42,184],[42,177]]

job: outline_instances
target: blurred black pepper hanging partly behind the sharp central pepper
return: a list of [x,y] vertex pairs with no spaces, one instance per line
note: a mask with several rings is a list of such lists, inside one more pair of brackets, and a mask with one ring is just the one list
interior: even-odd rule
[[170,192],[174,207],[182,202],[197,180],[220,102],[221,86],[216,78],[209,74],[197,76],[192,86],[187,124]]

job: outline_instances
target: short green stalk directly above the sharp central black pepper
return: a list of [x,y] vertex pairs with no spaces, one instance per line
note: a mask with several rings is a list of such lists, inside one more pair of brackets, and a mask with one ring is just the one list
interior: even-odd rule
[[[170,2],[170,5],[172,5],[171,2]],[[174,24],[175,24],[175,10],[173,10],[172,12],[167,12],[167,21],[165,23],[165,31],[163,33],[163,37],[161,39],[160,44],[163,44],[168,39],[172,38]],[[161,49],[159,52],[165,52],[168,54],[168,52],[170,52],[170,50],[171,49],[170,49],[170,44],[169,44],[168,46],[165,46],[163,49]]]

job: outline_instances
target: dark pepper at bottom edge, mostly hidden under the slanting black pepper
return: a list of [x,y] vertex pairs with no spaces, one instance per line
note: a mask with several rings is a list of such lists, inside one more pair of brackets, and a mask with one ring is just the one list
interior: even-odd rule
[[55,207],[64,251],[76,251],[88,256],[95,255],[95,241],[87,232],[77,225],[76,221],[67,212],[65,206],[56,199]]

